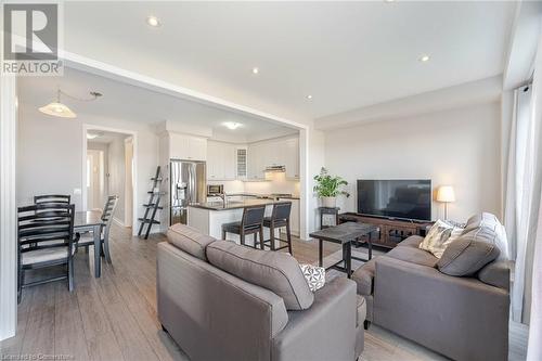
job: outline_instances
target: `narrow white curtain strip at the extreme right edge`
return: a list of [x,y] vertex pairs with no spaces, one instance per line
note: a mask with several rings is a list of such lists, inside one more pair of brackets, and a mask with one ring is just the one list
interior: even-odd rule
[[[532,117],[529,124],[526,176],[531,178],[530,214],[527,227],[527,252],[532,250],[529,346],[527,360],[542,360],[542,37],[534,61]],[[532,246],[531,246],[532,244]],[[526,278],[527,279],[527,278]],[[526,283],[527,286],[527,283]]]

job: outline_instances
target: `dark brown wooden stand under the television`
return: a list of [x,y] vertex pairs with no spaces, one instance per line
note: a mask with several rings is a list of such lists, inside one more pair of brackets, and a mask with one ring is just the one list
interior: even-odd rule
[[398,243],[411,235],[425,236],[426,229],[433,225],[433,222],[370,217],[356,212],[340,214],[338,220],[339,223],[359,222],[377,225],[380,232],[378,236],[373,235],[373,245],[386,248],[393,248]]

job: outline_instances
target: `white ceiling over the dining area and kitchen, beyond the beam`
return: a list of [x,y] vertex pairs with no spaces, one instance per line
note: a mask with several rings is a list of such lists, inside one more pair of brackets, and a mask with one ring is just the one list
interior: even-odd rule
[[[78,99],[90,99],[90,91],[103,93],[95,101],[85,102],[62,96],[62,103],[79,115],[92,115],[106,118],[120,118],[158,125],[165,120],[182,130],[183,126],[209,128],[214,138],[227,141],[244,142],[247,139],[268,134],[283,136],[296,130],[276,124],[219,109],[176,96],[154,92],[120,81],[112,80],[77,69],[64,68],[62,77],[21,77],[20,103],[22,106],[43,106],[56,96],[56,89]],[[225,121],[242,124],[241,128],[230,130]],[[263,137],[266,138],[266,137]]]

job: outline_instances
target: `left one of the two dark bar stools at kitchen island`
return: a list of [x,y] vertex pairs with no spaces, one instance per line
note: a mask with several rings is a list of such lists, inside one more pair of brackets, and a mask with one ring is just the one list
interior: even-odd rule
[[[222,240],[225,240],[227,233],[238,234],[241,244],[245,245],[245,236],[254,234],[254,247],[258,244],[258,234],[260,241],[263,240],[263,215],[266,212],[266,205],[248,206],[243,210],[243,218],[241,221],[223,223],[222,224]],[[261,249],[263,249],[263,242],[260,242]]]

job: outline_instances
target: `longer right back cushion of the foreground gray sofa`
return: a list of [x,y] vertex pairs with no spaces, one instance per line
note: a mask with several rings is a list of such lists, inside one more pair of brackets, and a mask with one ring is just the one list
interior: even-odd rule
[[214,242],[206,253],[215,267],[282,297],[287,310],[305,310],[314,301],[299,263],[289,254],[254,249],[230,241]]

